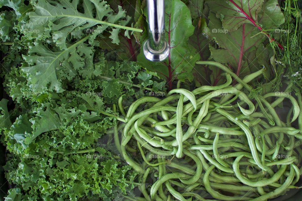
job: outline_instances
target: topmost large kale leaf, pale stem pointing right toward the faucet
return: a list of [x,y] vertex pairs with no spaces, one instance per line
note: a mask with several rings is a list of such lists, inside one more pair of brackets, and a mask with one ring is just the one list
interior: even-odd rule
[[[50,1],[39,0],[35,11],[30,12],[30,20],[21,27],[21,31],[29,38],[47,38],[53,41],[61,50],[67,49],[67,41],[91,36],[92,39],[102,34],[109,26],[115,27],[110,33],[113,43],[118,44],[120,26],[130,21],[126,12],[119,6],[115,13],[103,0],[87,1]],[[92,27],[96,26],[96,29]],[[128,32],[125,33],[129,35]]]

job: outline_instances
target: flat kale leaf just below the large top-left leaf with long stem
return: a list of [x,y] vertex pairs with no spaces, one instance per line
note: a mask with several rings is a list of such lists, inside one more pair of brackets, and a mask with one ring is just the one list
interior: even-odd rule
[[68,46],[62,51],[52,51],[47,46],[35,43],[29,49],[29,56],[23,56],[22,70],[28,75],[33,92],[45,90],[63,91],[60,78],[72,79],[76,70],[84,68],[92,59],[92,47],[84,42],[88,37]]

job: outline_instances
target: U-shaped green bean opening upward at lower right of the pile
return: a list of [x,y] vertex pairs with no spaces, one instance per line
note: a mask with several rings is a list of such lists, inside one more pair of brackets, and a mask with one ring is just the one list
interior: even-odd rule
[[249,179],[243,177],[239,170],[239,161],[244,155],[238,156],[233,163],[233,170],[235,172],[236,177],[245,185],[252,187],[263,187],[267,186],[270,183],[278,181],[281,175],[285,172],[287,165],[282,165],[281,168],[274,174],[273,177],[269,179],[262,179],[260,181],[250,181]]

